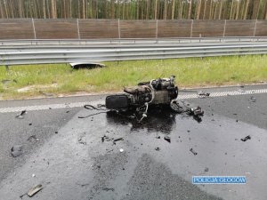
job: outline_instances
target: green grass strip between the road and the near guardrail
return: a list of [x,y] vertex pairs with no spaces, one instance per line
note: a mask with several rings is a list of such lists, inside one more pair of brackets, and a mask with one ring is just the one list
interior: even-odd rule
[[[267,81],[267,55],[229,56],[171,60],[106,62],[106,68],[75,70],[65,64],[0,68],[0,99],[41,96],[40,91],[58,94],[117,92],[152,78],[176,76],[182,87],[250,84]],[[54,85],[54,86],[53,86]],[[27,92],[18,89],[32,86]]]

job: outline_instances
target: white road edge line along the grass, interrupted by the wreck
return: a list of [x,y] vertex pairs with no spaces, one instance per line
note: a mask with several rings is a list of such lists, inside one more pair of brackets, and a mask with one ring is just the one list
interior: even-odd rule
[[[224,97],[224,96],[236,96],[244,94],[257,94],[257,93],[267,93],[267,89],[261,90],[249,90],[249,91],[231,91],[231,92],[212,92],[210,97]],[[198,94],[182,94],[178,96],[179,100],[185,99],[196,99]],[[62,103],[62,104],[48,104],[48,105],[36,105],[36,106],[26,106],[26,107],[10,107],[10,108],[0,108],[0,113],[13,113],[21,112],[22,110],[46,110],[46,109],[57,109],[57,108],[79,108],[85,106],[85,104],[90,104],[96,106],[97,104],[104,104],[104,101],[88,101],[88,102],[75,102],[75,103]]]

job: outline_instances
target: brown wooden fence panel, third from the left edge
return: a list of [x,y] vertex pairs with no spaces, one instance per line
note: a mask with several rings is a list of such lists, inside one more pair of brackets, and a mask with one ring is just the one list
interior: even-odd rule
[[81,39],[118,38],[118,20],[79,20]]

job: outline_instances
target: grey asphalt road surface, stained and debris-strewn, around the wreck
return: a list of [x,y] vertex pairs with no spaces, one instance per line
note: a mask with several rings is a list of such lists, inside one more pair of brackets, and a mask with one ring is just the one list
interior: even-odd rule
[[[99,112],[81,105],[104,96],[0,101],[0,199],[266,200],[266,89],[206,89],[214,96],[205,99],[181,93],[204,109],[200,123],[166,108],[150,110],[142,124],[114,113],[78,118]],[[16,118],[22,108],[27,114]],[[14,145],[22,155],[11,155]],[[197,175],[247,183],[193,185]],[[43,189],[28,197],[38,184]]]

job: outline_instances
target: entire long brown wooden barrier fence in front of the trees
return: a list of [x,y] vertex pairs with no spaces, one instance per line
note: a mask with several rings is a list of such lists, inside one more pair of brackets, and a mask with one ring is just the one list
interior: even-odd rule
[[226,24],[225,20],[0,20],[0,39],[35,36],[36,39],[267,36],[267,20],[257,20],[256,24],[255,20],[226,20]]

